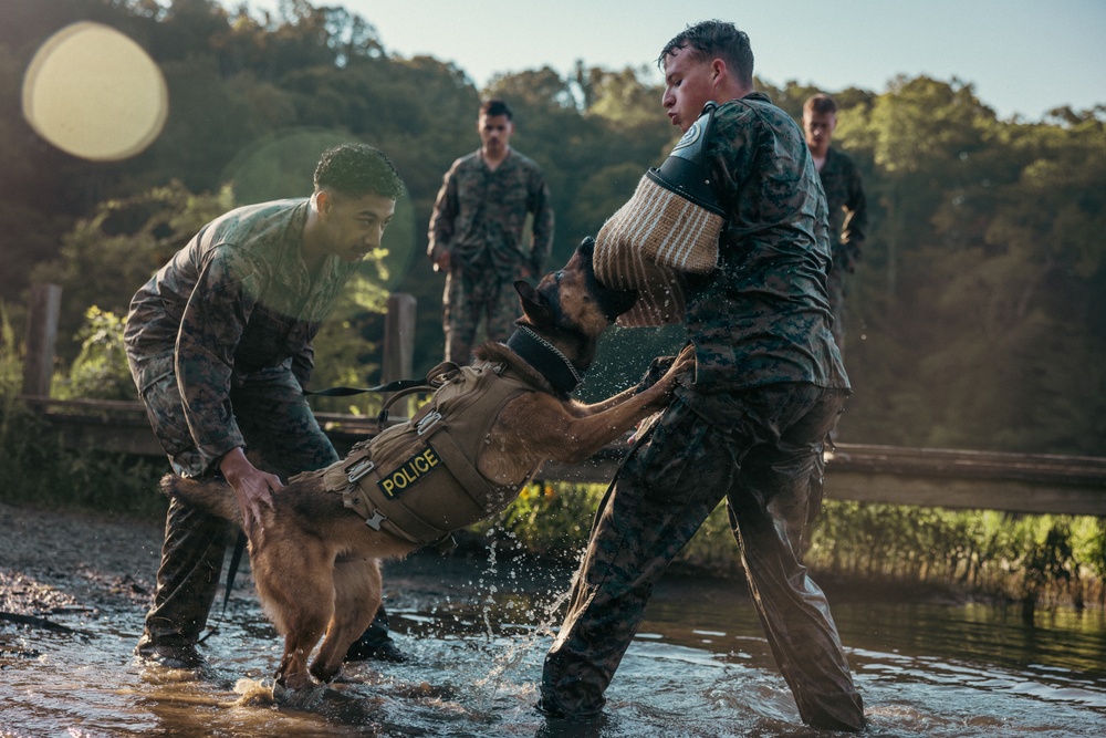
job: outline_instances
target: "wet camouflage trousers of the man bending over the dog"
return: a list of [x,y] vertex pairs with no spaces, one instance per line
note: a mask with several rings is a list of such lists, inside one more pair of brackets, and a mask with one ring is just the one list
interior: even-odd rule
[[[261,459],[259,467],[284,481],[305,470],[319,469],[338,460],[330,438],[319,427],[306,399],[294,391],[290,375],[262,372],[255,381],[231,391],[234,417],[247,441],[247,451]],[[174,434],[180,414],[176,380],[169,375],[156,382],[143,395],[150,422],[179,472],[179,461],[195,458],[187,439],[166,438]],[[231,493],[231,492],[228,492]],[[227,544],[233,542],[237,528],[222,518],[170,500],[165,521],[161,563],[157,571],[154,605],[146,614],[146,626],[138,648],[144,646],[188,647],[196,645],[204,631],[219,586]],[[382,620],[383,619],[383,620]],[[388,640],[383,605],[377,620],[366,632]]]

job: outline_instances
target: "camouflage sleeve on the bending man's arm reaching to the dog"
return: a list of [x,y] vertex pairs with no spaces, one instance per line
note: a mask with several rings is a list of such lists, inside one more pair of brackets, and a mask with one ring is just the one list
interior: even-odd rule
[[192,441],[210,470],[222,456],[244,446],[230,404],[234,350],[257,304],[260,277],[225,248],[204,264],[185,306],[175,364]]

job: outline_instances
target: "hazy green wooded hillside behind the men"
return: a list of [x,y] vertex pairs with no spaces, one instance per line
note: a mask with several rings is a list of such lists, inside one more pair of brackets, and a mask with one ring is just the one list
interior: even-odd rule
[[[18,331],[29,285],[62,284],[63,374],[82,350],[65,339],[87,336],[90,315],[125,315],[137,287],[211,217],[307,194],[319,153],[347,139],[386,152],[408,197],[387,253],[320,336],[319,380],[374,378],[389,290],[418,299],[425,372],[441,354],[444,281],[424,256],[427,222],[442,174],[479,145],[481,98],[511,104],[513,144],[546,173],[550,268],[677,137],[647,70],[580,62],[568,75],[526,70],[478,89],[453,64],[389,53],[372,18],[307,0],[276,15],[213,0],[6,0],[0,13],[0,299]],[[124,162],[64,154],[21,115],[30,59],[79,20],[125,32],[168,84],[164,132]],[[841,439],[1106,456],[1106,107],[1000,119],[970,83],[927,76],[881,92],[757,86],[796,119],[808,95],[834,94],[834,143],[865,178],[870,226],[848,302],[855,391]],[[670,329],[613,331],[584,393],[635,381],[676,341]]]

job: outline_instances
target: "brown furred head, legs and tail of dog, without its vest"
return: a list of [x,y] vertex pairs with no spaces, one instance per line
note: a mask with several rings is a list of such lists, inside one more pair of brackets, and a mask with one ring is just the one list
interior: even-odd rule
[[[546,274],[536,288],[524,281],[514,285],[523,309],[515,321],[519,330],[555,347],[578,373],[592,363],[601,334],[635,300],[633,293],[607,290],[596,281],[593,246],[586,239],[564,269]],[[557,392],[509,346],[484,343],[474,352],[477,361],[502,362],[525,377],[532,391],[508,401],[491,420],[489,443],[474,468],[493,484],[513,486],[515,496],[542,464],[578,464],[664,407],[678,376],[695,362],[685,349],[654,384],[584,405]],[[421,484],[426,493],[435,481]],[[234,495],[221,480],[168,475],[161,486],[168,495],[241,524]],[[250,540],[251,571],[265,613],[284,636],[275,680],[289,689],[309,688],[312,676],[331,682],[340,674],[346,649],[372,621],[380,603],[379,560],[404,557],[421,543],[374,528],[372,521],[366,524],[317,475],[290,480],[273,493],[272,503],[262,509],[262,532]],[[324,633],[309,671],[307,658]]]

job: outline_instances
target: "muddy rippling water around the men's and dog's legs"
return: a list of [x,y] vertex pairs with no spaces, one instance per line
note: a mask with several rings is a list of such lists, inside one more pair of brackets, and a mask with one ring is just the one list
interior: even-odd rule
[[[502,558],[502,557],[501,557]],[[252,595],[232,601],[198,673],[131,657],[137,611],[58,614],[71,635],[0,624],[0,735],[816,736],[799,714],[740,582],[669,576],[581,731],[534,711],[571,572],[418,554],[386,570],[393,627],[413,661],[358,664],[306,709],[276,708],[281,651]],[[1106,622],[978,604],[833,597],[870,727],[866,736],[1098,736]]]

